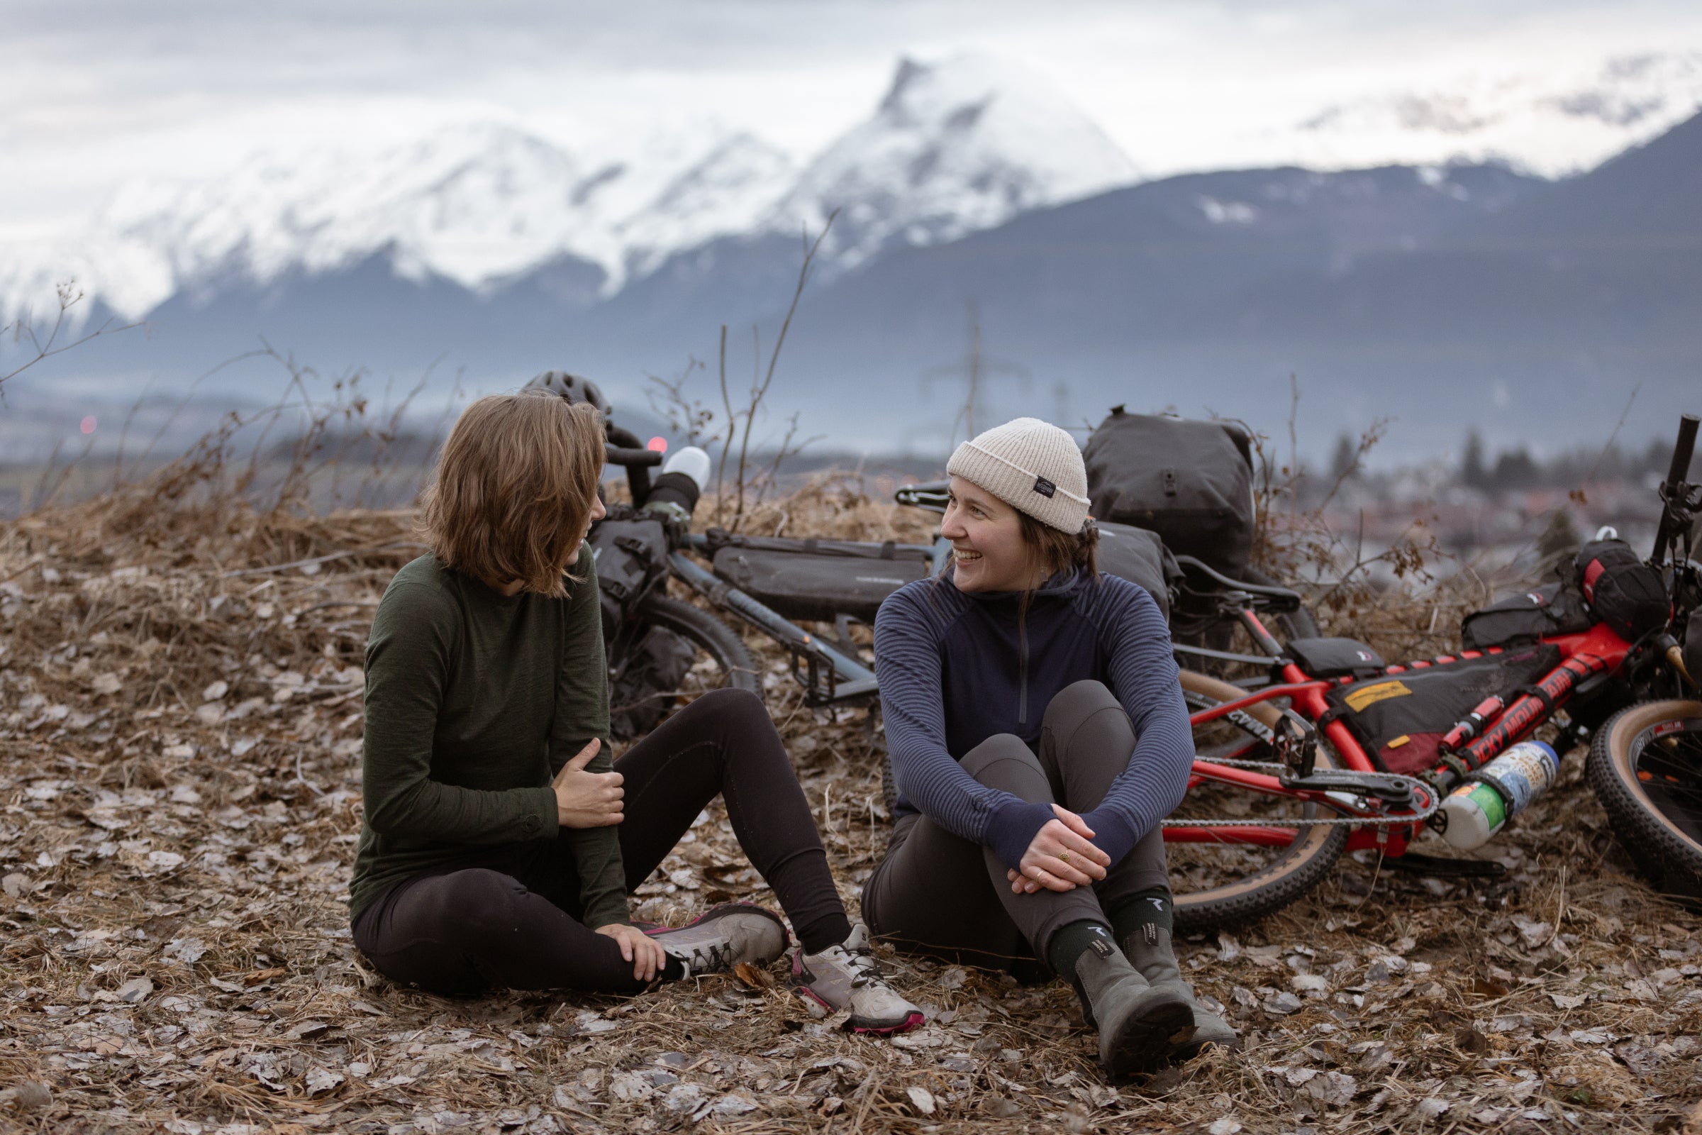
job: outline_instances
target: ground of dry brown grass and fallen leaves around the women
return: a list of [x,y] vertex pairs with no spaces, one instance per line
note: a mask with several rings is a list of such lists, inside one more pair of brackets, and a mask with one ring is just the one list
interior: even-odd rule
[[[928,529],[832,482],[749,519]],[[342,895],[361,650],[410,521],[255,510],[191,476],[0,528],[0,1125],[1530,1135],[1676,1130],[1702,1096],[1702,921],[1629,873],[1576,757],[1486,849],[1501,880],[1343,863],[1181,943],[1248,1045],[1137,1084],[1103,1082],[1062,985],[892,955],[931,1016],[894,1041],[814,1019],[778,967],[630,1001],[397,989]],[[339,558],[257,570],[315,556]],[[1389,611],[1362,633],[1391,657],[1447,645],[1428,609]],[[800,706],[764,659],[854,910],[885,839],[866,715]],[[711,812],[638,905],[734,895],[773,902]]]

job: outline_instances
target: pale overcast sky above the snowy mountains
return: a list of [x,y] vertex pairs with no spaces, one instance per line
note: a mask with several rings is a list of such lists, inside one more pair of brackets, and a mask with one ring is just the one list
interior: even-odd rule
[[0,240],[131,177],[511,121],[568,145],[745,126],[800,157],[902,54],[1057,82],[1149,172],[1282,160],[1261,136],[1367,92],[1702,49],[1673,0],[0,0]]

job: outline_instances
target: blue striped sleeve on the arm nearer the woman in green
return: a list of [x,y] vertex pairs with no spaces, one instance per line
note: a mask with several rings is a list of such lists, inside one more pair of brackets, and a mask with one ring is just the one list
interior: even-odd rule
[[991,846],[1016,868],[1052,810],[963,771],[946,749],[941,643],[957,611],[928,580],[899,589],[875,614],[880,713],[899,795],[953,836]]

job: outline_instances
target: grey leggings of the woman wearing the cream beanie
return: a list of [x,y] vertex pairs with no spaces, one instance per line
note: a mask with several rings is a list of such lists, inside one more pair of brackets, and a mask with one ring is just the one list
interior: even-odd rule
[[[1098,807],[1134,749],[1128,715],[1110,689],[1086,681],[1065,686],[1047,706],[1038,759],[1019,737],[996,733],[962,764],[989,788],[1081,813]],[[1120,900],[1166,885],[1157,827],[1091,888],[1016,895],[991,847],[912,813],[894,825],[887,858],[863,887],[863,919],[900,950],[1037,980],[1048,972],[1040,960],[1054,931],[1082,919],[1110,924],[1106,912]]]

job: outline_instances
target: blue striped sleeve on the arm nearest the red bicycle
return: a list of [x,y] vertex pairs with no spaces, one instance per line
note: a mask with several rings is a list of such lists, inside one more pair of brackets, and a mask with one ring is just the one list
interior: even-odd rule
[[1135,727],[1135,752],[1111,781],[1105,800],[1082,815],[1094,844],[1111,863],[1162,822],[1183,793],[1193,767],[1193,728],[1181,679],[1171,653],[1169,626],[1140,587],[1105,577],[1089,594],[1088,619],[1111,659],[1111,691]]

